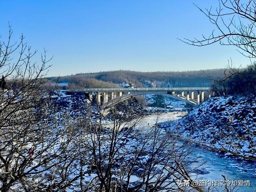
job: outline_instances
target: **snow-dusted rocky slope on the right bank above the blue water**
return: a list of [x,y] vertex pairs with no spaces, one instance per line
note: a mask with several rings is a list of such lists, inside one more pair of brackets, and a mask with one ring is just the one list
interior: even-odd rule
[[256,158],[256,98],[211,98],[184,118],[161,126],[227,155]]

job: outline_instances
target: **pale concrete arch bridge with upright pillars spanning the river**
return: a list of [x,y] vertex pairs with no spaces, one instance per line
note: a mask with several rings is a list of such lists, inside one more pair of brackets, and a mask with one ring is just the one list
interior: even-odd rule
[[62,90],[68,93],[82,93],[91,101],[93,99],[103,108],[108,108],[133,96],[144,94],[158,94],[185,101],[188,104],[197,106],[204,100],[214,96],[210,87],[172,87],[172,88],[85,88],[76,90]]

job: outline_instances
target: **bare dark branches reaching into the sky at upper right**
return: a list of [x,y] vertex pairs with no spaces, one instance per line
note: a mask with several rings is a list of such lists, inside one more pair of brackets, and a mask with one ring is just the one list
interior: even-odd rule
[[[183,39],[182,41],[194,46],[206,46],[214,43],[236,46],[238,51],[248,58],[256,58],[256,1],[255,0],[218,0],[218,7],[202,9],[196,6],[214,25],[215,29],[208,36],[202,38]],[[253,70],[234,68],[231,63],[224,71],[224,81],[236,74],[254,75],[255,65],[251,62]],[[215,79],[216,80],[216,79]],[[218,81],[218,80],[217,80]]]

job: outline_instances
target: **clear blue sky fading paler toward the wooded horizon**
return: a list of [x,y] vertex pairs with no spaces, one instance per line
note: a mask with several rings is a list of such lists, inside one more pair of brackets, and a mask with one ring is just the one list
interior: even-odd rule
[[[195,47],[214,26],[192,4],[217,0],[1,0],[0,34],[21,33],[32,48],[54,56],[48,75],[107,70],[181,71],[224,68],[249,60],[236,47]],[[37,59],[37,58],[35,58]]]

